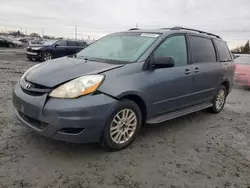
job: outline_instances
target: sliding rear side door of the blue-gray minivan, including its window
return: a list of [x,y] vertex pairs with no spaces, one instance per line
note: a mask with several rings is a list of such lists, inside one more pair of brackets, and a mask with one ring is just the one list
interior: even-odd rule
[[209,102],[222,81],[222,65],[216,60],[214,44],[210,38],[190,36],[192,52],[193,104]]

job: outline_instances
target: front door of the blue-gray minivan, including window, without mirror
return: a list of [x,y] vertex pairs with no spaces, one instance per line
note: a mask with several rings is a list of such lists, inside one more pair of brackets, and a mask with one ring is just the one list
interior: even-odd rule
[[175,66],[155,69],[148,75],[154,116],[188,107],[192,85],[184,34],[168,37],[154,52],[154,58],[157,57],[173,57]]

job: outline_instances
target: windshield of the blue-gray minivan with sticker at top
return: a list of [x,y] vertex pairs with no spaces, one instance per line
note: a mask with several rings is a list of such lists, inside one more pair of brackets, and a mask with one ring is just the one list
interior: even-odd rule
[[136,32],[108,35],[80,51],[77,57],[134,62],[158,36],[159,34],[154,33]]

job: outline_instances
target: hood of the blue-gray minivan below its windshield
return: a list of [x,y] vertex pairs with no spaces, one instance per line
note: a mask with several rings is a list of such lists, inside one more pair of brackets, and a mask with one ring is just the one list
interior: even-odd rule
[[55,87],[80,76],[99,74],[123,65],[64,57],[39,64],[26,73],[25,79],[42,86]]

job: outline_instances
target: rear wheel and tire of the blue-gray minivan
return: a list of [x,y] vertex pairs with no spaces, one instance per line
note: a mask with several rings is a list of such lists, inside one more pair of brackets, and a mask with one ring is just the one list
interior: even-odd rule
[[217,114],[223,110],[226,103],[227,94],[227,88],[224,85],[221,85],[212,101],[213,106],[209,108],[211,113]]

